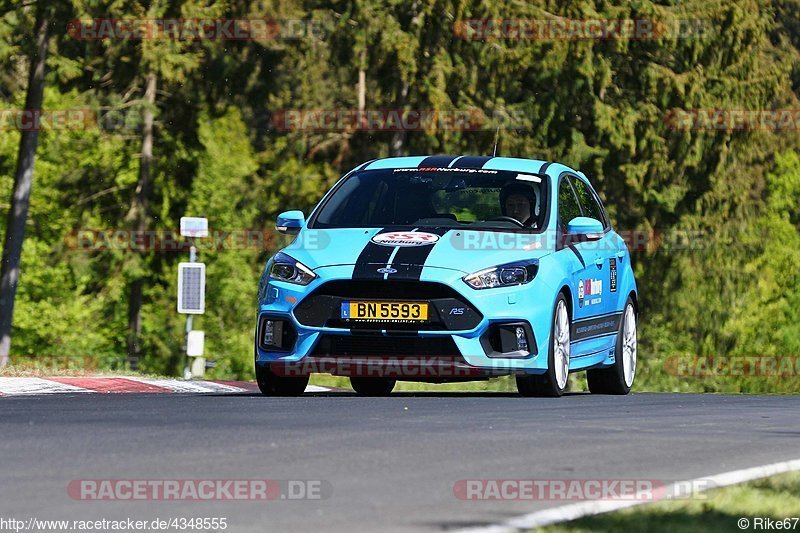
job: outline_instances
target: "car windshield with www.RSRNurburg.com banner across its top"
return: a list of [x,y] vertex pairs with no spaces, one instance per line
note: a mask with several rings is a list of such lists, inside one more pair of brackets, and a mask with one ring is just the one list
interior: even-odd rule
[[547,212],[546,181],[504,170],[367,170],[339,184],[309,227],[539,231]]

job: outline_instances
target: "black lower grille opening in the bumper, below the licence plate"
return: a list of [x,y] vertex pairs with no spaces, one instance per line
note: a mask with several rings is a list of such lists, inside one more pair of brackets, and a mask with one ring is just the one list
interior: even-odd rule
[[311,355],[333,357],[461,357],[456,343],[449,336],[384,337],[378,335],[322,335]]

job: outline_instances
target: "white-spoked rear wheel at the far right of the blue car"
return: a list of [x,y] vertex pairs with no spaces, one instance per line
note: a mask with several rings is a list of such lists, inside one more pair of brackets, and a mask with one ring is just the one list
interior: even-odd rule
[[628,394],[636,377],[638,351],[637,319],[633,301],[628,297],[619,323],[614,366],[586,371],[586,382],[592,394]]

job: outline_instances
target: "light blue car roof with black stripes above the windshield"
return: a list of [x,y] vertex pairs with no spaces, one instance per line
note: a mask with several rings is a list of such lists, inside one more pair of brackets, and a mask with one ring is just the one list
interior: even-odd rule
[[380,170],[390,168],[475,168],[486,170],[509,170],[513,172],[528,172],[531,174],[545,174],[553,179],[558,178],[562,172],[571,172],[586,179],[586,176],[562,163],[543,161],[540,159],[523,159],[519,157],[493,157],[493,156],[406,156],[387,157],[375,159],[360,165],[355,170]]

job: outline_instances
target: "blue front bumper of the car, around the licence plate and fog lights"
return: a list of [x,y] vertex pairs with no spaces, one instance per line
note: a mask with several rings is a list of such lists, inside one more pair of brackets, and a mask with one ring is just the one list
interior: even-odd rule
[[[387,285],[378,285],[375,290],[364,286],[359,289],[361,292],[348,293],[347,287],[356,283],[351,280],[352,272],[352,265],[324,267],[317,270],[318,278],[306,287],[270,280],[258,310],[256,339],[262,339],[261,325],[265,320],[286,321],[296,337],[290,347],[282,350],[268,351],[256,342],[256,361],[266,364],[373,356],[406,361],[409,357],[452,357],[491,375],[541,373],[547,368],[551,300],[555,295],[541,280],[534,279],[523,286],[474,290],[461,280],[463,272],[425,267],[420,281],[415,283],[436,288],[425,298],[435,310],[431,323],[345,323],[337,314],[342,298],[416,298],[413,294],[396,293],[396,288],[390,290],[390,282],[383,282]],[[463,310],[454,312],[454,308]],[[497,328],[509,324],[525,329],[528,350],[503,353],[496,349]]]

